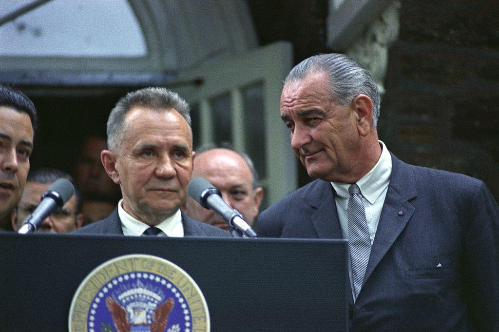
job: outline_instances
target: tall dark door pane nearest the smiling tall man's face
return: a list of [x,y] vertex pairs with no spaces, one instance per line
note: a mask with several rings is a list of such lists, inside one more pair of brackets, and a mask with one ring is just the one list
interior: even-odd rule
[[246,125],[246,152],[254,163],[258,176],[265,172],[265,121],[263,112],[263,86],[261,83],[243,89],[244,120]]

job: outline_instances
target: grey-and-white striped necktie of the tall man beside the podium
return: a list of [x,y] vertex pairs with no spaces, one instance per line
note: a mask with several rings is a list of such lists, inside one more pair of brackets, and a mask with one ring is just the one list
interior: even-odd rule
[[350,194],[347,208],[348,242],[352,263],[353,291],[355,299],[357,299],[371,254],[371,240],[369,239],[366,211],[359,186],[355,183],[352,184],[348,188],[348,193]]

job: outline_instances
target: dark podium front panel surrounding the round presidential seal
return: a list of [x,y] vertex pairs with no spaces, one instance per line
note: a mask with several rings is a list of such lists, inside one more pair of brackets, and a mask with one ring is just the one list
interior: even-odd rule
[[187,272],[206,299],[213,332],[347,330],[343,240],[2,233],[0,331],[66,331],[82,281],[129,254]]

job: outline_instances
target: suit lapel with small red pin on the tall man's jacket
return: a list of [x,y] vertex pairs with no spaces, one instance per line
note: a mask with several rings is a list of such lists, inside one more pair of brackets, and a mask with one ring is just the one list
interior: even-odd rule
[[405,228],[415,208],[409,200],[417,196],[414,173],[392,154],[392,175],[371,249],[364,283]]

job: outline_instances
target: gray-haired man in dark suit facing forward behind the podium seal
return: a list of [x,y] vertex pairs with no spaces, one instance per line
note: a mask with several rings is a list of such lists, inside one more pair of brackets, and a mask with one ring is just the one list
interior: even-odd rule
[[121,98],[107,122],[106,173],[123,199],[102,221],[78,234],[230,236],[185,216],[194,152],[189,106],[165,88],[145,88]]

